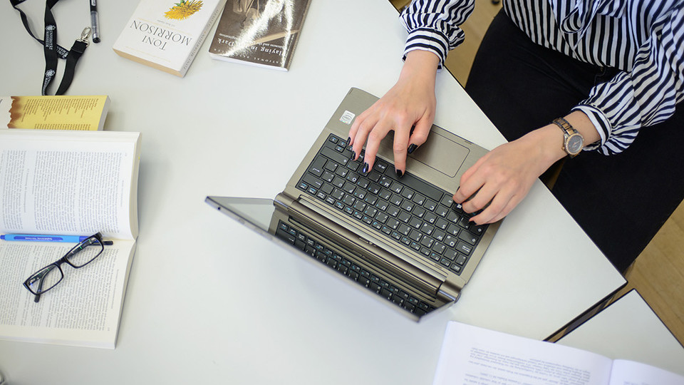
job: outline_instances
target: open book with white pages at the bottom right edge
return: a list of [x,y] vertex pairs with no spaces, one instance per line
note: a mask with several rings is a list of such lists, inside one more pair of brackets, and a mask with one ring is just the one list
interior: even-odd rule
[[450,322],[433,384],[682,385],[684,376]]

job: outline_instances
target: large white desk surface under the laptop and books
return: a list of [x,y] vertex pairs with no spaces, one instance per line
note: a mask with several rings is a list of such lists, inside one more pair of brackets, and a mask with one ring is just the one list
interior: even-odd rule
[[[406,36],[395,10],[314,0],[288,73],[212,61],[205,41],[177,78],[111,50],[136,4],[98,5],[102,43],[69,90],[110,95],[106,130],[142,132],[140,237],[117,347],[0,342],[11,384],[425,384],[448,320],[544,339],[625,282],[541,183],[459,302],[420,324],[264,242],[204,197],[274,197],[351,86],[387,91]],[[39,29],[43,5],[22,5]],[[53,11],[71,46],[86,2]],[[42,48],[7,1],[0,36],[0,93],[39,93]],[[504,141],[449,73],[437,83],[437,124],[487,148]]]

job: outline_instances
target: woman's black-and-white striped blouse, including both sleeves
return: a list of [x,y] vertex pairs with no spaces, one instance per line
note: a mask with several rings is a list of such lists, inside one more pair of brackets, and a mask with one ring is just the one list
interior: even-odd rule
[[[666,120],[684,98],[684,0],[504,0],[504,11],[534,43],[621,70],[591,89],[584,111],[601,143],[620,153],[641,127]],[[415,0],[400,20],[414,49],[441,58],[465,38],[459,28],[475,0]]]

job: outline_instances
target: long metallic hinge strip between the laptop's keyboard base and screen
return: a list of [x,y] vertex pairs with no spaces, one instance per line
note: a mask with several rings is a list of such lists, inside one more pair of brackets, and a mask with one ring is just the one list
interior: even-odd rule
[[279,194],[274,200],[274,205],[287,212],[294,220],[305,225],[311,231],[343,245],[348,250],[363,255],[369,262],[400,278],[403,282],[410,282],[413,287],[433,296],[453,297],[453,295],[449,294],[451,290],[440,294],[442,292],[440,288],[445,282],[446,277],[428,274],[416,268],[409,262],[373,244],[370,240],[360,237],[358,234],[348,230],[348,228],[302,205],[298,200],[293,200],[287,195]]

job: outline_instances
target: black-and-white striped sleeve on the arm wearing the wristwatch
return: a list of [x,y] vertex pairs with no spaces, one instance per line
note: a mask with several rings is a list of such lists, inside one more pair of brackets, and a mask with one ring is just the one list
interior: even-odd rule
[[628,148],[643,127],[668,119],[684,99],[684,9],[660,14],[633,67],[591,90],[575,109],[584,111],[601,135],[606,155]]

